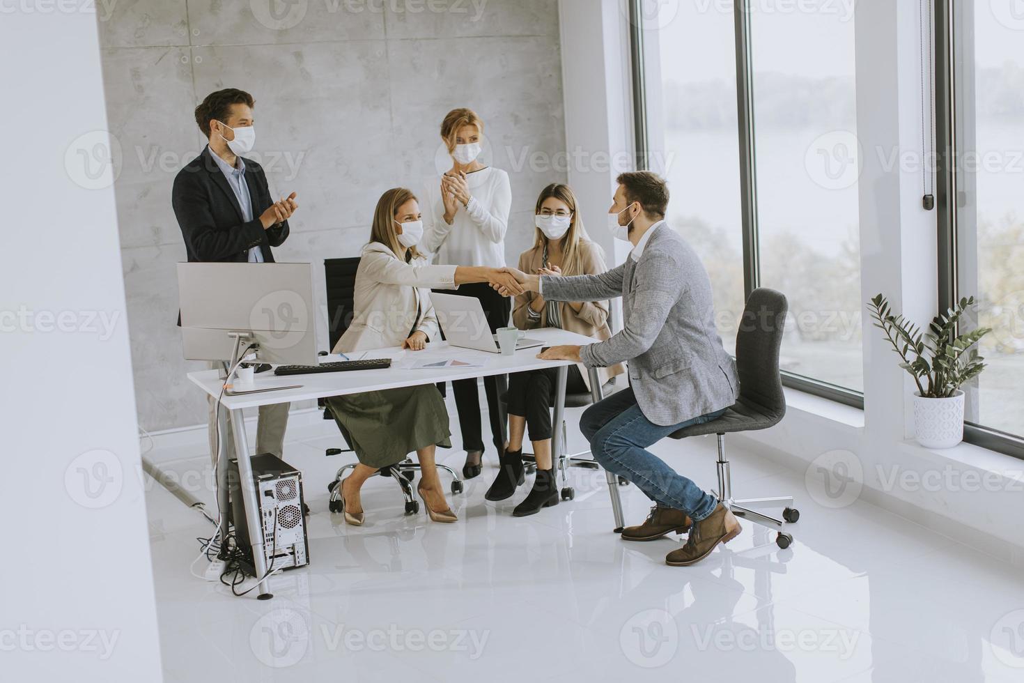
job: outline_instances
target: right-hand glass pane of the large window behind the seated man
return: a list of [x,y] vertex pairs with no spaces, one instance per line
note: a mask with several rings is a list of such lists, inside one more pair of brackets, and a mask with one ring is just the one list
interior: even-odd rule
[[752,5],[759,282],[790,301],[782,368],[863,391],[853,16],[839,4]]

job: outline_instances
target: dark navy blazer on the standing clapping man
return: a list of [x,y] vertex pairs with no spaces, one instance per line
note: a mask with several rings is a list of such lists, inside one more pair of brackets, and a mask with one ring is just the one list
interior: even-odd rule
[[206,147],[174,178],[171,205],[185,241],[188,261],[244,263],[249,260],[249,250],[260,247],[263,260],[273,263],[270,248],[284,244],[289,228],[286,220],[265,230],[259,221],[273,204],[266,173],[259,164],[243,157],[254,216],[246,222],[234,190],[212,155],[210,147]]

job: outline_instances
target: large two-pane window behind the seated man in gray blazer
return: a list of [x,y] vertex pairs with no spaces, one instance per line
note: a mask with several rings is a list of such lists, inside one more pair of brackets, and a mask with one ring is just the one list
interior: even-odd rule
[[862,405],[852,10],[736,2],[633,0],[637,148],[708,268],[726,348],[746,295],[777,289],[786,384]]

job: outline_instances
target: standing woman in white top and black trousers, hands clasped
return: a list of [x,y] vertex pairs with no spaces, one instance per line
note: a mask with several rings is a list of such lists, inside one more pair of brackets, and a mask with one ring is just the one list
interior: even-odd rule
[[[424,250],[435,254],[437,264],[504,267],[512,186],[508,173],[483,166],[478,160],[483,150],[483,121],[472,110],[453,110],[444,117],[440,133],[452,157],[452,168],[441,176],[439,193],[431,201]],[[480,300],[492,332],[508,325],[512,312],[508,297],[485,284],[463,287],[458,294]],[[483,458],[476,380],[453,382],[452,387],[462,428],[462,446],[466,450],[462,473],[472,479],[480,474]],[[505,444],[501,437],[498,378],[484,378],[483,387],[494,444],[501,456]]]

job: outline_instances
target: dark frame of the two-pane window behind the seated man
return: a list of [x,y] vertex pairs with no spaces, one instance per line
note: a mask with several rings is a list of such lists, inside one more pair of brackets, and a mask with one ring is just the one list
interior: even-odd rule
[[[626,0],[630,15],[630,72],[633,82],[633,120],[637,150],[637,169],[648,170],[649,150],[647,129],[647,83],[644,71],[644,36],[642,7],[643,0]],[[733,19],[735,22],[736,55],[736,108],[739,124],[739,189],[743,246],[743,296],[751,294],[761,284],[761,245],[758,227],[757,189],[757,146],[754,116],[754,66],[751,49],[751,0],[735,0]],[[839,403],[864,410],[864,394],[861,391],[837,386],[812,377],[783,370],[782,385],[827,398]]]

